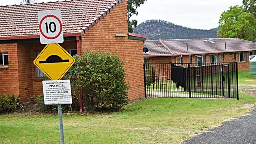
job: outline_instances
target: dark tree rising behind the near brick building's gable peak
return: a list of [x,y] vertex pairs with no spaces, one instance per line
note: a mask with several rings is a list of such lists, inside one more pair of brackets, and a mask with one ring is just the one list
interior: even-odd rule
[[130,21],[130,18],[133,15],[138,15],[138,12],[136,11],[138,7],[140,7],[144,2],[147,0],[127,0],[127,22],[128,22],[128,32],[132,33],[134,26],[137,27],[137,20]]

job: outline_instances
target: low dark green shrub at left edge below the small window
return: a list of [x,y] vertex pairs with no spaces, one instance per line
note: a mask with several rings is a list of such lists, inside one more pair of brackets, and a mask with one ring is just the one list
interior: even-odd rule
[[0,114],[17,110],[19,107],[20,96],[0,94]]

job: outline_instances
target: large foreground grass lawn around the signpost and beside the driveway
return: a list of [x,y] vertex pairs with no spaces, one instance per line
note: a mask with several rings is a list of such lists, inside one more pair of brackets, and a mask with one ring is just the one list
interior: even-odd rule
[[[239,98],[239,101],[157,98],[137,101],[126,105],[121,112],[111,114],[63,115],[65,142],[67,144],[179,143],[208,128],[219,126],[221,122],[230,118],[245,115],[252,109],[250,104],[256,103],[256,97],[246,94],[240,94]],[[58,115],[2,115],[0,144],[2,143],[60,143]]]

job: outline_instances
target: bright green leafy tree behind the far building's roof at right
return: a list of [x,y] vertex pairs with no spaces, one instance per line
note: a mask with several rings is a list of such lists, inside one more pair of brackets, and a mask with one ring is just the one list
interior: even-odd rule
[[242,6],[230,7],[224,11],[219,20],[220,30],[217,35],[220,38],[239,38],[255,41],[256,20],[250,13],[245,12]]

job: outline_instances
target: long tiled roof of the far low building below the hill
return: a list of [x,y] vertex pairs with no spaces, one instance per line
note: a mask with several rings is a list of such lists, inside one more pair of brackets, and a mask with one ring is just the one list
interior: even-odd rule
[[[207,41],[207,42],[205,42]],[[210,54],[256,50],[256,42],[237,38],[213,39],[174,39],[145,41],[148,48],[145,56]]]

